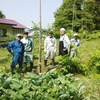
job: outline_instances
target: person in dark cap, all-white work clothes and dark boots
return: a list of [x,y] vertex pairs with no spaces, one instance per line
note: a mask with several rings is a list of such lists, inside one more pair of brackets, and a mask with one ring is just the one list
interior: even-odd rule
[[53,37],[53,32],[49,32],[49,36],[44,41],[44,51],[46,52],[44,59],[44,67],[47,66],[48,57],[51,57],[52,66],[54,66],[54,55],[56,52],[56,38]]

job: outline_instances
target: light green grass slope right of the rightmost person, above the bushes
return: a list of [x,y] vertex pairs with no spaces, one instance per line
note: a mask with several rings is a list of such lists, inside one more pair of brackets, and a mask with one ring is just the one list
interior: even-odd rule
[[80,60],[84,63],[89,63],[88,61],[90,60],[92,54],[95,53],[96,50],[100,50],[99,44],[100,44],[100,39],[91,41],[82,40],[80,52],[78,55]]

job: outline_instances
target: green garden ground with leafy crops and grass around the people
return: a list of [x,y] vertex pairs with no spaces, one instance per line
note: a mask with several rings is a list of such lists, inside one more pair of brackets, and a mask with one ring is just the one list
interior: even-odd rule
[[[38,40],[34,40],[34,66],[38,66]],[[78,57],[59,57],[55,67],[42,68],[42,73],[10,73],[11,55],[6,48],[0,53],[0,100],[99,100],[100,41],[81,39]],[[58,53],[58,51],[57,51]],[[42,52],[44,55],[44,52]],[[42,56],[42,65],[43,65]]]

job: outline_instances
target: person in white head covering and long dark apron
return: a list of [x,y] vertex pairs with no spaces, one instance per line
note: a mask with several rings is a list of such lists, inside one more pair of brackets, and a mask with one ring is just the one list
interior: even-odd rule
[[60,29],[60,43],[59,43],[59,55],[64,56],[69,53],[70,41],[68,36],[65,34],[65,29]]

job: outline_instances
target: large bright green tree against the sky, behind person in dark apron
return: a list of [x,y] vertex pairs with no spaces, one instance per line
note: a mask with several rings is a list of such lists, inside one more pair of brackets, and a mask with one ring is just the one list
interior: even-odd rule
[[61,7],[54,13],[54,25],[78,31],[81,27],[83,0],[63,0]]

